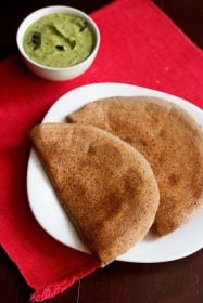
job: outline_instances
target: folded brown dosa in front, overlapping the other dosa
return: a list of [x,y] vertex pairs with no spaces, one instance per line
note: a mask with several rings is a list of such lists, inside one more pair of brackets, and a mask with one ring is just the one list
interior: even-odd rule
[[139,152],[91,126],[45,123],[29,136],[59,200],[102,265],[145,236],[160,193]]

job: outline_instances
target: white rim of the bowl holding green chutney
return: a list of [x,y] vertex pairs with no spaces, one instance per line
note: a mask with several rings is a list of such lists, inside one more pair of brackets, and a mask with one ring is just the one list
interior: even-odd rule
[[[94,41],[94,47],[93,47],[93,50],[91,51],[91,53],[89,54],[89,56],[86,57],[84,61],[81,61],[77,64],[74,64],[72,66],[64,66],[64,67],[46,66],[43,64],[40,64],[40,63],[31,60],[26,54],[26,52],[24,51],[24,48],[23,48],[23,37],[24,37],[28,26],[30,26],[34,22],[38,21],[42,16],[52,14],[54,12],[58,13],[58,11],[59,11],[59,13],[75,14],[75,15],[78,15],[80,17],[84,17],[89,23],[89,25],[90,25],[90,27],[93,31],[93,35],[94,35],[94,40],[96,40]],[[35,15],[38,15],[40,13],[42,13],[42,15],[36,16],[36,19],[29,23],[30,18],[35,17]],[[26,23],[28,23],[28,25],[26,25]],[[25,29],[24,29],[24,26],[25,26]],[[43,68],[46,70],[53,70],[53,71],[73,70],[76,67],[79,68],[79,66],[83,66],[84,63],[86,63],[89,60],[91,60],[92,57],[94,57],[94,55],[98,52],[99,45],[100,45],[100,40],[101,40],[100,30],[99,30],[99,27],[96,24],[96,22],[88,14],[86,14],[84,11],[80,11],[78,9],[75,9],[75,8],[68,6],[68,5],[50,5],[50,6],[45,6],[45,8],[38,9],[36,11],[33,11],[20,23],[20,26],[17,28],[17,32],[16,32],[16,44],[17,44],[18,51],[22,54],[22,56],[25,60],[27,60],[30,64],[35,65],[36,67]]]

